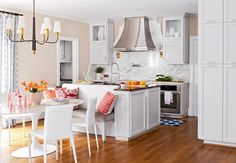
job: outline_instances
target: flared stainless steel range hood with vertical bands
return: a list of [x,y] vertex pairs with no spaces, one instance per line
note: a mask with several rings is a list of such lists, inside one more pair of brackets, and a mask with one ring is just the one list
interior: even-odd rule
[[148,18],[145,16],[125,18],[123,32],[115,43],[114,51],[132,52],[155,49]]

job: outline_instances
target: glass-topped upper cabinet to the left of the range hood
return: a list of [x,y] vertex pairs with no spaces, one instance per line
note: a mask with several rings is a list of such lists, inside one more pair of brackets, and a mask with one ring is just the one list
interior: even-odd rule
[[113,21],[90,24],[90,64],[113,62]]

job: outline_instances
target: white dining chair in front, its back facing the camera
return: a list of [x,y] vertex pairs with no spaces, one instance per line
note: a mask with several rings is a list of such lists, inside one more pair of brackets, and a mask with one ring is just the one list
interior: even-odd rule
[[69,138],[72,144],[74,161],[77,163],[74,136],[72,133],[73,105],[47,106],[44,118],[44,128],[29,132],[29,162],[31,162],[31,137],[36,136],[44,142],[44,163],[47,162],[47,143],[55,141],[56,160],[58,160],[58,140]]

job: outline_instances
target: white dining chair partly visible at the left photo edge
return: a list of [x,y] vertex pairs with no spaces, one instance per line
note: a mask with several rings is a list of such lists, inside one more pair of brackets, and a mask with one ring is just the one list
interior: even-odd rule
[[[7,93],[0,93],[0,105],[3,107],[4,105],[7,105]],[[19,117],[11,117],[11,118],[2,118],[1,123],[3,120],[6,120],[8,122],[8,144],[11,145],[11,122],[12,119],[16,119]],[[22,118],[22,127],[23,127],[23,138],[25,137],[25,118]],[[3,123],[2,123],[3,124]]]

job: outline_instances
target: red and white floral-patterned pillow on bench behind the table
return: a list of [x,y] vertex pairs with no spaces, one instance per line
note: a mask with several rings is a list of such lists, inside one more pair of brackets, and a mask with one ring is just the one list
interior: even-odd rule
[[68,88],[57,88],[56,89],[57,98],[79,98],[79,88],[78,89],[68,89]]

